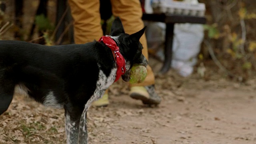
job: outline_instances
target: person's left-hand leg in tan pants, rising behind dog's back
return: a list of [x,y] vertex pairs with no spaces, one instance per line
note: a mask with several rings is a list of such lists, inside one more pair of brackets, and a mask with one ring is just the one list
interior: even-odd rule
[[[103,35],[100,24],[100,0],[68,0],[74,19],[74,40],[76,44],[84,44],[98,40]],[[95,106],[109,104],[108,92],[94,102]]]

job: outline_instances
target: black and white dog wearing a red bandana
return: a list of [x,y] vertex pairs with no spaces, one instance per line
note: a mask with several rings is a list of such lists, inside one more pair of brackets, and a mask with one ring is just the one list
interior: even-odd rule
[[0,41],[0,114],[14,93],[26,94],[45,106],[64,108],[67,143],[87,144],[86,112],[92,102],[119,76],[128,82],[133,64],[147,66],[139,42],[144,31],[126,34],[116,18],[110,36],[104,37],[114,44],[106,44],[104,38],[61,46]]

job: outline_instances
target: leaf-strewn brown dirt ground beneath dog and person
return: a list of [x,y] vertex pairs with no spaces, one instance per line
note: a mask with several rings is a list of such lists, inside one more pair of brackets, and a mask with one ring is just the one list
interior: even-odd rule
[[[150,64],[157,74],[162,63],[150,58]],[[110,105],[88,111],[90,144],[256,144],[256,79],[228,80],[212,62],[206,75],[156,76],[157,107],[133,100],[118,81]],[[0,116],[0,144],[64,143],[64,110],[15,96]]]

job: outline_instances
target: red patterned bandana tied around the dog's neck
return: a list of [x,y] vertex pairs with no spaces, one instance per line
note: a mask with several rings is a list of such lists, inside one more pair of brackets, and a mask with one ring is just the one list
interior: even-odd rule
[[102,36],[98,41],[99,42],[102,41],[104,44],[106,44],[106,46],[108,46],[116,56],[116,58],[114,57],[117,64],[116,80],[115,80],[116,82],[117,80],[119,80],[120,76],[122,76],[125,73],[125,70],[126,70],[125,59],[120,53],[119,47],[116,45],[116,42],[112,38],[110,38],[109,36]]

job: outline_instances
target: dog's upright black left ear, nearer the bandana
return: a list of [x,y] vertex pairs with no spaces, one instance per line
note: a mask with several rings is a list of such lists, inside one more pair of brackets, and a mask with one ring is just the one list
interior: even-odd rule
[[122,25],[122,22],[119,17],[116,17],[116,19],[113,21],[111,26],[110,36],[118,36],[123,33],[124,33],[124,27]]

